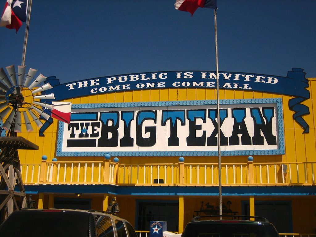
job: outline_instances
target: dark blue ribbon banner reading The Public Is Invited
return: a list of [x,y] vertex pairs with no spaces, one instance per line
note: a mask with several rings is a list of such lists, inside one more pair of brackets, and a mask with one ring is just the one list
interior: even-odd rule
[[[301,125],[303,133],[309,132],[309,126],[302,118],[309,114],[309,108],[303,101],[310,98],[307,90],[308,80],[301,68],[292,68],[286,77],[243,72],[219,72],[219,88],[224,90],[258,91],[292,96],[289,109],[294,111],[293,119]],[[45,93],[54,93],[55,100],[66,100],[88,95],[106,94],[131,90],[167,89],[167,88],[204,88],[216,89],[215,71],[161,71],[103,76],[82,81],[60,84],[56,76],[47,77],[45,83],[52,89]],[[44,93],[44,92],[42,92]],[[50,125],[46,121],[40,135]]]

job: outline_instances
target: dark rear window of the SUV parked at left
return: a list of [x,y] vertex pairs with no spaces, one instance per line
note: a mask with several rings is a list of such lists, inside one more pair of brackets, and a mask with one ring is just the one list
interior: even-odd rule
[[74,211],[18,211],[0,226],[6,237],[87,237],[89,213]]

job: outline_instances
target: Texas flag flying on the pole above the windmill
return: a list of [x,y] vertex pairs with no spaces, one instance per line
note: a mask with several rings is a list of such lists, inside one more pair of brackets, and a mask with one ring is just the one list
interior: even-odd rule
[[7,0],[1,15],[0,26],[8,29],[20,29],[22,22],[26,22],[28,0]]

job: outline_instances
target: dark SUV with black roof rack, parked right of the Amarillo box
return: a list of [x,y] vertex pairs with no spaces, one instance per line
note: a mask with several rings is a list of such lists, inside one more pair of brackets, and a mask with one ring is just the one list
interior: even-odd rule
[[276,228],[258,216],[197,216],[181,237],[280,237]]

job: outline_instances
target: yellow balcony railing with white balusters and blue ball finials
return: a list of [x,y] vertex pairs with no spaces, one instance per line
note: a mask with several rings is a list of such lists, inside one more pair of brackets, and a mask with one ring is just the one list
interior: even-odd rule
[[[316,162],[222,163],[222,185],[315,185]],[[24,184],[218,185],[217,163],[121,164],[42,161],[21,164]]]

